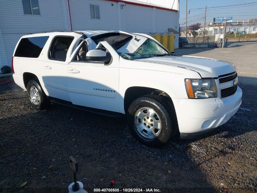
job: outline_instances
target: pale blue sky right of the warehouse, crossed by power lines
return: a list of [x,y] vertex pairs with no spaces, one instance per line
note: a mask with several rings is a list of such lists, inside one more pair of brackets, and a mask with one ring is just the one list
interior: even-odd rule
[[[247,4],[252,3],[252,4]],[[238,5],[245,4],[245,5]],[[214,17],[233,17],[233,22],[247,21],[257,18],[257,0],[187,0],[187,13],[190,10],[190,14],[187,15],[188,26],[194,23],[203,23],[205,8],[207,5],[206,23],[209,20],[213,21]],[[225,5],[237,5],[230,7],[209,8]],[[180,26],[186,26],[186,0],[180,0]]]

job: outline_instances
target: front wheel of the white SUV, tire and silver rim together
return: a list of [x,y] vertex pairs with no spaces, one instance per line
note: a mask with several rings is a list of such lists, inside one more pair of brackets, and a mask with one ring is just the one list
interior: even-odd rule
[[141,143],[160,147],[172,136],[170,107],[164,98],[145,95],[134,100],[127,112],[128,125],[133,136]]

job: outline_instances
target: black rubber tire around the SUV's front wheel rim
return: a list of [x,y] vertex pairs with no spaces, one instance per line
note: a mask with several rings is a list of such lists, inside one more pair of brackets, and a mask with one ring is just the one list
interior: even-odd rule
[[[143,136],[137,129],[135,123],[135,114],[139,109],[144,107],[153,109],[159,115],[159,120],[161,121],[161,129],[155,138],[147,138]],[[145,95],[135,99],[131,103],[127,112],[128,126],[132,135],[142,144],[150,147],[161,147],[168,143],[174,133],[172,127],[172,115],[174,115],[174,113],[174,108],[170,106],[170,103],[168,103],[165,98],[157,95]]]

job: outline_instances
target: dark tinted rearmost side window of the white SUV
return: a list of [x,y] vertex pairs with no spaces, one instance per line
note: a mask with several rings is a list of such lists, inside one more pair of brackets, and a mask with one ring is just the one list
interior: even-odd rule
[[22,38],[16,48],[14,56],[38,58],[49,36]]

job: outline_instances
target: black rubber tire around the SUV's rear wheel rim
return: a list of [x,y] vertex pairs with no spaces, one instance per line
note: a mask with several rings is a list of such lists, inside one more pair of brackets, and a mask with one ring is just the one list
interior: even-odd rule
[[[38,104],[34,104],[30,97],[30,88],[35,87],[37,89],[37,93],[39,95],[40,100]],[[31,106],[36,110],[45,110],[49,107],[50,101],[47,98],[47,95],[44,93],[43,89],[38,80],[30,80],[27,84],[27,95],[30,98]]]

